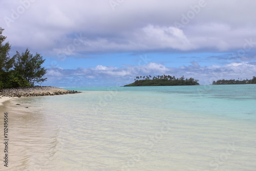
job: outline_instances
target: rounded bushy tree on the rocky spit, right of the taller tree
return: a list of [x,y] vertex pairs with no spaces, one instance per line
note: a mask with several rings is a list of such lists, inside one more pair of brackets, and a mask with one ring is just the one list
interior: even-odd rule
[[42,78],[46,74],[46,69],[41,67],[45,59],[42,59],[40,54],[36,53],[34,56],[30,54],[27,49],[22,55],[16,52],[14,55],[16,62],[14,63],[14,71],[22,78],[27,80],[32,86],[34,83],[41,83],[47,78]]

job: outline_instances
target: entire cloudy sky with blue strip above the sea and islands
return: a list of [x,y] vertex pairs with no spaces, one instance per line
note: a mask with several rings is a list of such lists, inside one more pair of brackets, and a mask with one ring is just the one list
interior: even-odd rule
[[41,86],[124,86],[172,75],[211,84],[256,76],[256,1],[0,1],[10,56],[46,59]]

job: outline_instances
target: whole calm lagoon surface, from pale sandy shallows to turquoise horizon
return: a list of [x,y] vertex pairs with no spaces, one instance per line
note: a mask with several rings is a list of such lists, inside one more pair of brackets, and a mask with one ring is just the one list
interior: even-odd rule
[[0,106],[0,170],[256,168],[256,85],[65,89]]

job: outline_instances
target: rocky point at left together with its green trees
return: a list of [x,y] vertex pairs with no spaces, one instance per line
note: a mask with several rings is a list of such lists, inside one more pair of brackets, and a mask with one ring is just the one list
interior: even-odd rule
[[[45,59],[38,53],[31,54],[27,49],[20,54],[18,51],[13,57],[9,56],[11,46],[5,42],[4,29],[0,27],[0,96],[46,96],[78,93],[49,86],[35,86],[44,82],[47,70],[42,67]],[[1,98],[1,97],[0,97]]]

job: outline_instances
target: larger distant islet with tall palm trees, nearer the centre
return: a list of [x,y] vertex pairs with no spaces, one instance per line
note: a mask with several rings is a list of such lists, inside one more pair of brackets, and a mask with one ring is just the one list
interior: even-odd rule
[[124,87],[137,87],[137,86],[195,86],[199,85],[199,80],[194,78],[185,79],[184,76],[176,78],[170,75],[137,76],[134,82],[127,84]]

